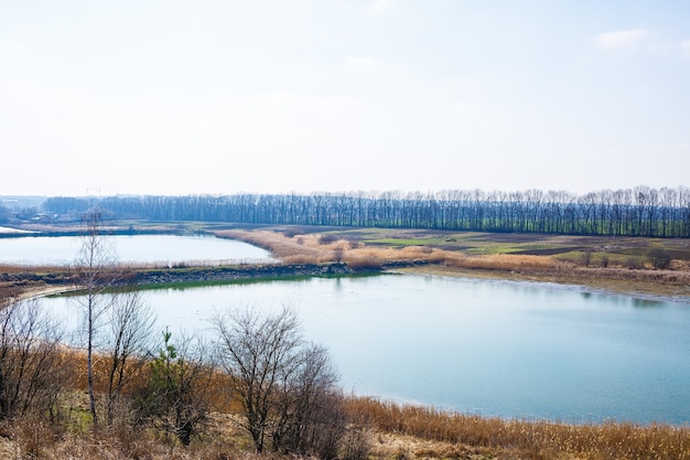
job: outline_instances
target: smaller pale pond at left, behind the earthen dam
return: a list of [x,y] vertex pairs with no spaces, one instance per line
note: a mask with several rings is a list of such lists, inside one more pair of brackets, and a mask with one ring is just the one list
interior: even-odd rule
[[[107,236],[121,263],[271,261],[268,250],[233,239],[202,235]],[[78,236],[0,238],[0,264],[68,265],[82,245]]]

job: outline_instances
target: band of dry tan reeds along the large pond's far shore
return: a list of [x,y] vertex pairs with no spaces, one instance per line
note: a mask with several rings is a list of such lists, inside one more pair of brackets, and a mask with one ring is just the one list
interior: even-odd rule
[[[687,259],[669,260],[669,268],[656,269],[645,263],[647,246],[625,248],[630,253],[623,259],[614,254],[591,253],[579,249],[567,257],[513,254],[513,247],[505,253],[470,254],[448,247],[449,239],[433,240],[435,235],[428,233],[434,244],[406,246],[370,245],[360,234],[334,232],[327,234],[289,231],[217,231],[216,235],[239,239],[270,249],[285,264],[324,264],[342,261],[354,270],[396,268],[436,272],[442,275],[488,276],[495,278],[540,280],[563,284],[586,285],[597,289],[644,295],[688,297],[690,296],[690,266]],[[505,236],[498,236],[506,238]],[[516,240],[518,238],[516,237]],[[395,243],[395,239],[392,239]],[[418,238],[419,242],[423,239]],[[554,237],[554,245],[562,244],[565,237]],[[579,247],[583,239],[575,239]],[[601,238],[596,242],[601,245]],[[671,242],[676,243],[677,242]],[[522,242],[516,243],[519,246]],[[628,245],[630,243],[627,243]],[[634,244],[639,245],[638,240]],[[543,249],[545,252],[547,249]],[[565,249],[563,249],[564,252]],[[636,250],[636,252],[635,252]],[[680,250],[677,253],[687,257]],[[572,256],[575,254],[576,256]],[[585,256],[586,255],[586,259]],[[633,259],[633,264],[629,259]],[[407,267],[407,268],[406,268]]]

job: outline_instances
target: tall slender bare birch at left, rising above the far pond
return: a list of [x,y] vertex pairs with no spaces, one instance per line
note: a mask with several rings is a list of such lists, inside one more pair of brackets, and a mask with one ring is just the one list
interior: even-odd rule
[[98,319],[107,310],[108,304],[103,301],[100,293],[110,285],[115,277],[114,266],[116,257],[107,235],[103,231],[103,212],[99,208],[89,210],[83,217],[85,232],[82,248],[76,260],[76,271],[79,285],[85,291],[78,298],[85,312],[86,332],[86,374],[88,385],[89,407],[94,424],[98,422],[96,398],[94,395],[94,346]]

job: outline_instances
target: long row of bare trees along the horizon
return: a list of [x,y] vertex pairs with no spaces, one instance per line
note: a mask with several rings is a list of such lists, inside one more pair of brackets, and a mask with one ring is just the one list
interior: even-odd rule
[[351,192],[50,197],[44,211],[78,216],[97,204],[112,218],[273,225],[433,228],[568,235],[690,237],[690,189]]

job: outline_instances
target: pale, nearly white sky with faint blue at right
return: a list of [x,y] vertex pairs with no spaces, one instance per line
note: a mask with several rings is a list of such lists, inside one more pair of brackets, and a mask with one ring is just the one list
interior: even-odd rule
[[0,0],[0,195],[690,186],[690,2]]

